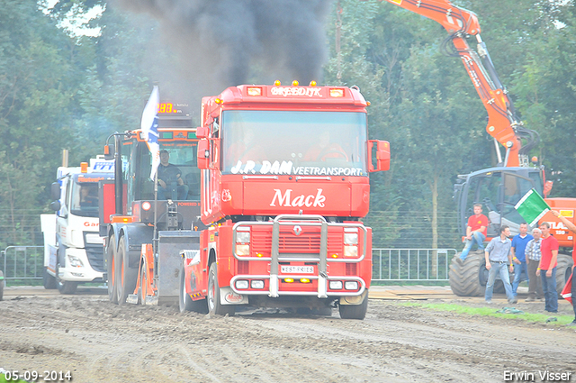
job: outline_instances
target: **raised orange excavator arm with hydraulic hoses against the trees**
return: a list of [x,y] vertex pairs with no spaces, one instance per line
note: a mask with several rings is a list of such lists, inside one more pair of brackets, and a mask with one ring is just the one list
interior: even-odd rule
[[[502,161],[497,144],[496,151],[500,163],[506,167],[528,166],[527,152],[536,145],[539,136],[537,132],[528,130],[519,121],[512,100],[500,83],[486,44],[482,41],[481,27],[476,14],[455,6],[448,0],[385,1],[442,24],[448,32],[444,43],[446,50],[448,50],[449,42],[452,41],[455,50],[449,54],[462,59],[464,68],[488,112],[486,132],[506,148],[506,158]],[[476,37],[477,50],[473,50],[466,41],[468,36]],[[524,140],[524,146],[522,140]]]

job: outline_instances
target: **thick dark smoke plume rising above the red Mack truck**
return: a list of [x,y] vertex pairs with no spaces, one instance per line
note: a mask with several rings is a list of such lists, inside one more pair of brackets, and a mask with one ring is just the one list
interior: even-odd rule
[[205,90],[246,83],[254,73],[258,81],[307,84],[320,80],[327,59],[331,0],[117,1],[159,21],[179,68]]

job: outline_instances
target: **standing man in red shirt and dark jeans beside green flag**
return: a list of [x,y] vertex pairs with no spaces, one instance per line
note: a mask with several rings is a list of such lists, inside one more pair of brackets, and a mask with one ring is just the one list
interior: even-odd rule
[[556,259],[558,258],[558,240],[550,235],[550,223],[540,223],[542,258],[536,269],[536,276],[542,278],[542,289],[545,297],[545,310],[558,312],[558,293],[556,292]]

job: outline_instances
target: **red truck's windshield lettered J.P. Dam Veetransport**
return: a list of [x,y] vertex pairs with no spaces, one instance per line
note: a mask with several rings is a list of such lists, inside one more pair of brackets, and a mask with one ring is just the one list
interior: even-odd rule
[[225,174],[367,176],[366,115],[224,111]]

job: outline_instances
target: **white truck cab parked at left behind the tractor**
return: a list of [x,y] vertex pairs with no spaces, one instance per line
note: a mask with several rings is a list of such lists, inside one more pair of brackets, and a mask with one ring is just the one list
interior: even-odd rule
[[45,288],[74,294],[79,283],[103,282],[103,239],[98,233],[98,184],[114,178],[113,160],[103,156],[83,162],[80,167],[59,167],[57,182],[51,185],[50,207],[56,214],[41,214],[44,234]]

